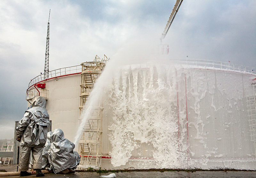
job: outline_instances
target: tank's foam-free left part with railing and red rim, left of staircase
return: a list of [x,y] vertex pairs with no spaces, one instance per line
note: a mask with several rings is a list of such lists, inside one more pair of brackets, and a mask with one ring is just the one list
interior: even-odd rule
[[[35,87],[38,83],[44,83],[45,88]],[[46,109],[52,120],[52,131],[62,129],[65,138],[72,142],[80,117],[80,84],[81,65],[78,65],[50,71],[49,79],[44,79],[44,74],[39,75],[31,80],[27,90],[28,107],[29,100],[34,96],[45,97]]]

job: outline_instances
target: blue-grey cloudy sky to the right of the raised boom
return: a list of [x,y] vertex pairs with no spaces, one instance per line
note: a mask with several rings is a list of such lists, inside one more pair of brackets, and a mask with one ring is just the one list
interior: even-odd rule
[[175,58],[256,66],[254,1],[184,1],[166,41]]

